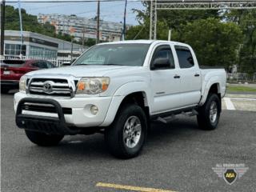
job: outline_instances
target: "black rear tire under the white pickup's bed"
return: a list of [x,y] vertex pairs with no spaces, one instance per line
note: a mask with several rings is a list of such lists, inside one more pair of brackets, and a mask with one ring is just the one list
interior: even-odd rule
[[[214,103],[216,107],[214,107]],[[212,107],[212,108],[211,108]],[[214,130],[218,126],[221,113],[221,101],[217,94],[209,94],[206,102],[198,109],[198,126],[202,130]],[[210,116],[213,114],[212,116]],[[216,116],[215,116],[216,114]]]

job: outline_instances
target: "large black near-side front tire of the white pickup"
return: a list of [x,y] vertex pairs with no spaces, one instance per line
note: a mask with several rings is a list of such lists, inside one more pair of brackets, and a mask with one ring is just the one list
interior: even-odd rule
[[[139,127],[140,125],[141,134],[138,134],[135,128],[131,128],[130,130],[127,130],[127,127],[125,128],[127,125],[126,123],[131,125],[130,123],[133,121],[135,122],[131,127]],[[130,136],[125,138],[126,136],[124,136],[124,131],[126,131],[126,136],[129,134]],[[135,104],[126,104],[122,106],[120,110],[118,110],[118,114],[116,115],[114,122],[105,130],[106,146],[108,147],[108,150],[110,150],[110,154],[113,154],[117,158],[134,158],[141,152],[142,147],[146,141],[146,134],[146,114],[140,106]],[[138,137],[138,135],[140,136],[134,140],[129,138],[133,137],[133,135],[134,138]],[[127,139],[130,141],[130,147],[128,147],[129,141]],[[128,142],[128,144],[126,142]]]

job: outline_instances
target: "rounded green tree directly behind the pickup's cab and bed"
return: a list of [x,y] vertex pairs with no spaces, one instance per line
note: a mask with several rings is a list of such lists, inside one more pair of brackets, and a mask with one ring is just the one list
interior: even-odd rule
[[237,64],[242,30],[234,22],[220,22],[216,18],[199,19],[175,30],[173,40],[190,44],[198,62],[205,66]]

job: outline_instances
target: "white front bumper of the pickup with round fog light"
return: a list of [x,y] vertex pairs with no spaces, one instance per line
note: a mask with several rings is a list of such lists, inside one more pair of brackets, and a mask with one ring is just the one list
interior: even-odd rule
[[[107,111],[110,106],[112,97],[91,97],[91,98],[50,98],[35,95],[27,95],[21,92],[14,94],[14,110],[16,111],[17,125],[22,119],[27,122],[34,122],[34,118],[40,122],[56,122],[66,127],[86,128],[101,126],[106,118]],[[38,105],[51,105],[55,111],[34,111],[22,109],[22,104],[34,103]],[[94,115],[90,112],[90,106],[98,106],[98,114]],[[43,106],[42,106],[43,108]],[[22,109],[22,110],[21,110]],[[63,112],[65,109],[71,109],[71,113]],[[57,111],[57,112],[56,112]],[[35,122],[34,122],[35,123]],[[25,127],[26,128],[26,127]]]

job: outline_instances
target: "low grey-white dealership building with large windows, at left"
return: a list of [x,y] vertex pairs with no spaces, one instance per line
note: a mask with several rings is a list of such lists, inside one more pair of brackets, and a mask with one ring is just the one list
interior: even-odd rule
[[72,45],[58,38],[51,38],[43,34],[36,34],[30,31],[23,32],[23,43],[20,31],[5,30],[4,55],[6,57],[18,57],[20,54],[26,58],[56,59],[58,52],[82,53],[84,47],[78,44]]

